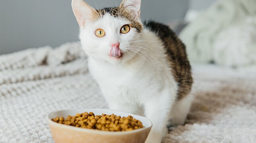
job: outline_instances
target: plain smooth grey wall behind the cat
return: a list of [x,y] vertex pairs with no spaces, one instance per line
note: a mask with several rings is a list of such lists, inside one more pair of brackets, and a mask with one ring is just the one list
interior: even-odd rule
[[[103,8],[122,0],[84,1]],[[141,17],[167,23],[182,19],[188,7],[188,0],[142,0]],[[0,0],[0,54],[78,41],[78,29],[71,0]]]

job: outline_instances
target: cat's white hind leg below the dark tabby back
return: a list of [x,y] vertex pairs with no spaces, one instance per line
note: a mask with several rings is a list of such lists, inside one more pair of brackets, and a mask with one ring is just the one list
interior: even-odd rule
[[169,114],[169,126],[184,124],[188,112],[190,111],[190,105],[192,100],[193,96],[192,94],[189,94],[174,103]]

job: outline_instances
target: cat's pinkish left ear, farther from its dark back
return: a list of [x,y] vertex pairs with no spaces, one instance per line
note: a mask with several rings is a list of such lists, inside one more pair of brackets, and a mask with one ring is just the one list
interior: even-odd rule
[[93,19],[93,14],[97,11],[83,2],[83,0],[72,0],[72,9],[80,27],[85,26],[87,20]]

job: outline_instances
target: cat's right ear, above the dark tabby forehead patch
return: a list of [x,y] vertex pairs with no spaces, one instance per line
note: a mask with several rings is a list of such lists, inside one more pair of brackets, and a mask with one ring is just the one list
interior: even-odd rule
[[120,4],[120,8],[127,9],[131,13],[135,20],[140,19],[140,4],[141,0],[123,0]]

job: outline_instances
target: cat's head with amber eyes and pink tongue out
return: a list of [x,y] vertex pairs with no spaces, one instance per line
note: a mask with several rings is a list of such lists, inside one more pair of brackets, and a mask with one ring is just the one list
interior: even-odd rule
[[140,4],[141,0],[123,0],[119,7],[96,10],[83,0],[72,0],[85,53],[112,64],[131,60],[143,30]]

